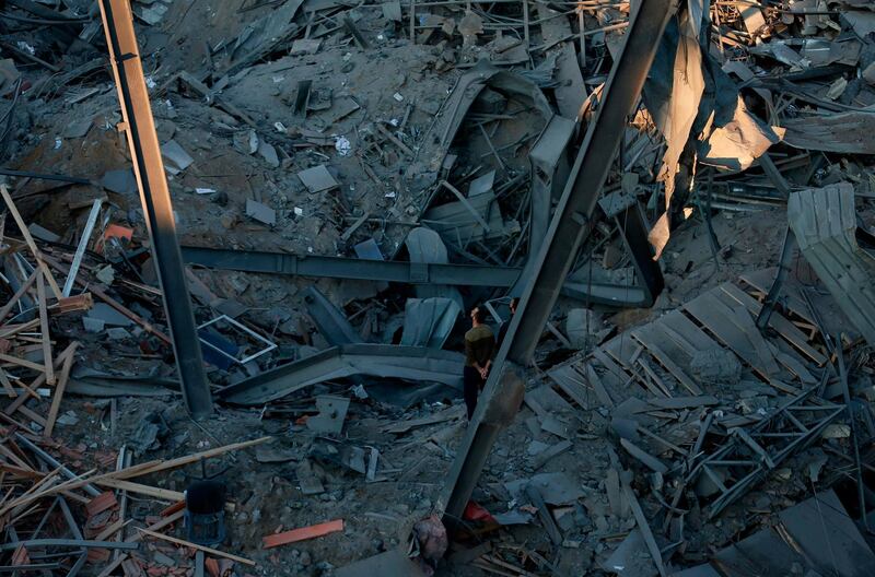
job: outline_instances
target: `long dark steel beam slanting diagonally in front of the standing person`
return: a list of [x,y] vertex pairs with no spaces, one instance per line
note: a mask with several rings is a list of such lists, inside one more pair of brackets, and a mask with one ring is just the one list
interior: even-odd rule
[[439,498],[438,513],[442,514],[443,522],[451,531],[462,518],[500,433],[500,428],[490,423],[488,413],[494,410],[495,404],[510,410],[516,402],[517,396],[508,390],[510,379],[505,375],[513,372],[513,364],[525,365],[532,360],[565,276],[590,233],[598,195],[626,130],[627,117],[644,86],[660,39],[676,8],[676,0],[640,0],[631,16],[622,49],[605,84],[599,109],[578,153],[547,237],[532,268],[532,278],[494,360],[468,434],[456,449],[456,459]]

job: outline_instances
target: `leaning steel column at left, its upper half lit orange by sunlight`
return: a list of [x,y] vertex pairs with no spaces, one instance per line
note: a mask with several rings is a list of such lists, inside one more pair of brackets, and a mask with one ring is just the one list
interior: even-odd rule
[[200,341],[185,282],[183,257],[176,242],[173,204],[133,33],[130,3],[129,0],[100,0],[100,4],[133,172],[152,239],[152,257],[164,295],[183,397],[191,415],[203,417],[212,412],[212,398],[203,374]]

